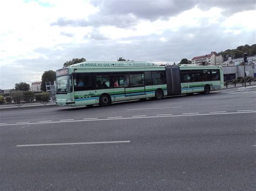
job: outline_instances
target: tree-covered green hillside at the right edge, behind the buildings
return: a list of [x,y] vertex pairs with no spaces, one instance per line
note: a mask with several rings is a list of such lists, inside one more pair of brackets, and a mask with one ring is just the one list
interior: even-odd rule
[[228,56],[233,56],[233,58],[240,58],[244,56],[244,53],[248,53],[248,56],[256,55],[256,44],[253,44],[252,46],[238,46],[236,49],[226,49],[226,51],[221,51],[218,54],[223,55],[225,60],[225,58]]

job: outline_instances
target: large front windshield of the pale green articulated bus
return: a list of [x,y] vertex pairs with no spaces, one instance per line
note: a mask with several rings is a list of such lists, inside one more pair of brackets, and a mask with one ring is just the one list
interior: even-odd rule
[[67,94],[72,92],[72,81],[70,75],[56,77],[57,91],[56,94]]

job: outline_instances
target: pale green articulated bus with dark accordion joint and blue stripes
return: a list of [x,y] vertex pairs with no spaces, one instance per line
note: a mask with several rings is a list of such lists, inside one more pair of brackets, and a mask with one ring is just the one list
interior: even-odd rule
[[82,106],[204,93],[224,86],[221,66],[159,66],[150,62],[81,62],[56,71],[56,103]]

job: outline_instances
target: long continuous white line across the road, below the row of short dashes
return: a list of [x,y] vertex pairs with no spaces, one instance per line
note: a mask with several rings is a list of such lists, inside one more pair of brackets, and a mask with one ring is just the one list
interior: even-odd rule
[[[148,117],[123,117],[123,118],[111,118],[111,119],[89,119],[89,120],[76,120],[76,121],[56,121],[56,122],[42,122],[42,123],[29,123],[29,124],[50,124],[50,123],[71,123],[71,122],[89,122],[89,121],[109,121],[109,120],[123,120],[123,119],[143,119],[143,118],[160,118],[160,117],[186,117],[186,116],[207,116],[207,115],[230,115],[230,114],[252,114],[256,111],[243,111],[243,112],[223,112],[213,114],[189,114],[189,115],[169,115],[169,116],[148,116]],[[24,124],[4,124],[0,126],[12,126],[12,125],[24,125]]]

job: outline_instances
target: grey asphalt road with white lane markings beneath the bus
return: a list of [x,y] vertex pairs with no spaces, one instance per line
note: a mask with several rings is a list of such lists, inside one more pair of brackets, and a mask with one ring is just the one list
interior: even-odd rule
[[0,117],[0,190],[256,189],[255,90]]

